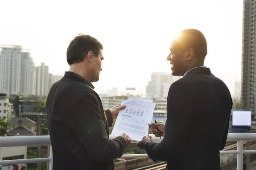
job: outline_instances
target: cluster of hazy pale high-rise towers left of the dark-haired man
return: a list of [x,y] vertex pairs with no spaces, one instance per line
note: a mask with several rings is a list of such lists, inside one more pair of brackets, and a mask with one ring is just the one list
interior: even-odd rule
[[62,77],[49,73],[44,62],[35,66],[29,49],[0,45],[0,93],[47,96],[51,85]]

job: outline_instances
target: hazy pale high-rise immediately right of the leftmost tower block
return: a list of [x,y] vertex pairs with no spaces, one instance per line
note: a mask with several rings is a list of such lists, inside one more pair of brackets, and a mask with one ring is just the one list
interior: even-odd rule
[[21,53],[20,94],[35,95],[35,65],[28,50]]

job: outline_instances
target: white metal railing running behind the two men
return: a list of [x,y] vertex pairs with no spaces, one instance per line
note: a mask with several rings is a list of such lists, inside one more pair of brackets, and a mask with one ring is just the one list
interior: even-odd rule
[[[154,142],[160,142],[160,138],[151,135]],[[110,139],[115,136],[110,135]],[[243,154],[256,153],[256,150],[243,150],[243,141],[256,141],[256,133],[229,133],[227,141],[237,141],[237,150],[220,151],[220,154],[237,154],[237,170],[243,169]],[[137,143],[132,141],[131,143]],[[50,145],[49,136],[10,136],[0,137],[0,147],[15,147],[15,146],[39,146]],[[128,154],[123,155],[121,158],[143,158],[148,157],[147,154]],[[52,147],[50,147],[49,158],[36,158],[36,159],[18,159],[18,160],[5,160],[0,161],[0,165],[6,164],[22,164],[22,163],[36,163],[36,162],[49,162],[49,170],[52,170]]]

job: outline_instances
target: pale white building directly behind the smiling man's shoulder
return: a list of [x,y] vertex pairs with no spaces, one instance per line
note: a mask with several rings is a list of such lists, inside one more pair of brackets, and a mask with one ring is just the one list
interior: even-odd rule
[[170,73],[153,72],[151,81],[146,86],[146,97],[151,99],[166,97],[170,85],[179,78],[172,76]]

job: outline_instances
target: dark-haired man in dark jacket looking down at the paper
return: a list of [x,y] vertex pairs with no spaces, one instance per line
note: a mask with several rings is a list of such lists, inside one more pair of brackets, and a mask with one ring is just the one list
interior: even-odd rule
[[122,156],[131,139],[122,133],[108,139],[119,110],[103,110],[91,82],[102,71],[102,44],[80,34],[67,48],[70,71],[55,82],[47,97],[47,119],[53,151],[53,170],[113,170],[113,159]]

